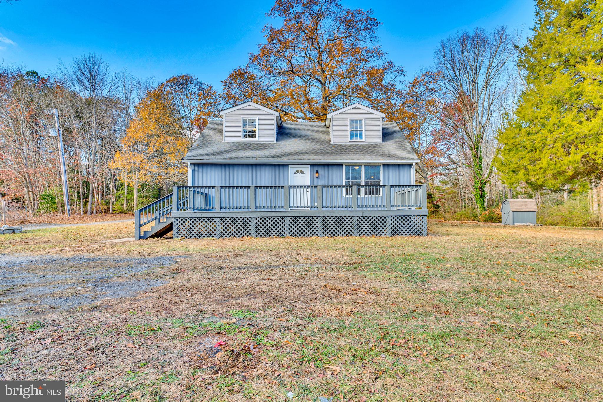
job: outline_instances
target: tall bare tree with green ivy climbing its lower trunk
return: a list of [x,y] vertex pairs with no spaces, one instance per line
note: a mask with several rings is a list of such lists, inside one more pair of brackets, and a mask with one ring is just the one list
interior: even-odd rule
[[476,28],[443,40],[435,52],[443,97],[441,124],[449,130],[455,156],[473,189],[478,212],[486,208],[487,183],[497,153],[497,130],[509,105],[514,78],[513,46],[505,27]]

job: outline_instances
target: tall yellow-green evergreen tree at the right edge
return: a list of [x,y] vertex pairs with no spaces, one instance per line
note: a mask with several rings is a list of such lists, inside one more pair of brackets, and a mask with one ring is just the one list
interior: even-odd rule
[[603,6],[538,0],[520,52],[526,87],[500,133],[497,165],[511,186],[561,189],[603,175]]

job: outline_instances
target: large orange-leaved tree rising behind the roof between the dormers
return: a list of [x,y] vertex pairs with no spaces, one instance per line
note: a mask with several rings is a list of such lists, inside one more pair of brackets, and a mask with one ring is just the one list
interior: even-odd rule
[[267,15],[283,23],[267,24],[259,51],[222,81],[227,103],[252,100],[287,121],[324,121],[353,102],[403,102],[404,70],[379,47],[370,11],[337,0],[277,0]]

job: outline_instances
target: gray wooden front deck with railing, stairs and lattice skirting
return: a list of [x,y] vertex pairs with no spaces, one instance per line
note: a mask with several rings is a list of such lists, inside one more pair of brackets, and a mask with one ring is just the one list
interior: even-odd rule
[[421,184],[174,186],[136,211],[135,237],[425,236],[426,205]]

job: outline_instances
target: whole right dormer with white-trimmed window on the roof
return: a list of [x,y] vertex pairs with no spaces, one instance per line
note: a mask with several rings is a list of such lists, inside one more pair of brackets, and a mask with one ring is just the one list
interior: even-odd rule
[[334,110],[327,115],[326,121],[331,143],[383,142],[384,118],[384,113],[359,103]]

